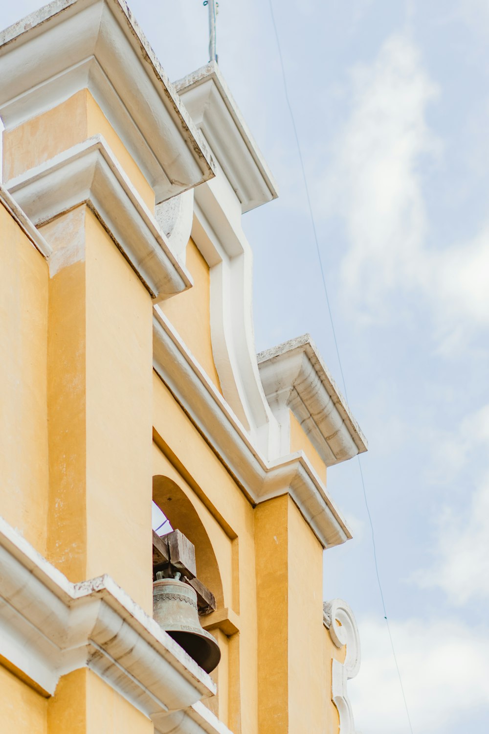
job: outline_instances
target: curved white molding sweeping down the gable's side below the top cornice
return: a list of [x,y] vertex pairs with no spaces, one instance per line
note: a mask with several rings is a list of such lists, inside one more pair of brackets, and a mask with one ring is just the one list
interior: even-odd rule
[[[195,190],[192,238],[210,266],[210,332],[224,398],[265,457],[276,457],[276,420],[263,392],[252,324],[252,253],[218,174]],[[287,451],[288,453],[288,451]]]

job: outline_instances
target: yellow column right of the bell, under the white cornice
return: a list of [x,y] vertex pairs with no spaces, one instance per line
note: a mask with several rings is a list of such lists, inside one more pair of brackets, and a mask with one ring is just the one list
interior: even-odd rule
[[323,734],[323,548],[289,496],[255,509],[260,734]]

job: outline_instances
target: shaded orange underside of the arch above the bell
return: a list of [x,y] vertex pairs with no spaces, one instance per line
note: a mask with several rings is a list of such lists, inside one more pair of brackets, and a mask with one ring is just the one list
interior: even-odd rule
[[168,518],[169,530],[182,531],[194,544],[197,578],[213,592],[217,608],[222,608],[224,595],[216,553],[194,505],[178,484],[167,476],[153,476],[152,498]]

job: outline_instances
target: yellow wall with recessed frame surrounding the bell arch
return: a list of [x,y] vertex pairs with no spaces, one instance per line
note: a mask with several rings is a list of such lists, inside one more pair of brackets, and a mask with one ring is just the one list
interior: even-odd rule
[[[235,734],[240,734],[241,731],[245,734],[257,734],[254,511],[216,454],[156,374],[153,380],[153,400],[155,440],[159,443],[155,445],[153,452],[153,472],[166,472],[166,476],[172,476],[185,493],[188,493],[189,500],[205,524],[222,570],[222,603],[224,607],[239,614],[240,633],[229,638],[227,647],[229,727]],[[166,447],[164,452],[163,444]],[[169,464],[173,466],[173,473]],[[158,501],[158,495],[155,495],[155,501]],[[239,539],[239,553],[236,537]],[[199,567],[197,572],[200,573]],[[239,586],[239,594],[235,591],[236,586]],[[213,706],[210,702],[209,705]],[[224,702],[220,706],[225,706]]]

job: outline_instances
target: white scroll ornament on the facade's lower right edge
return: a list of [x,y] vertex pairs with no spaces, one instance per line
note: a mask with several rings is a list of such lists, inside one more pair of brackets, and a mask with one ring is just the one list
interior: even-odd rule
[[337,647],[346,645],[344,663],[333,660],[331,669],[331,700],[339,713],[339,734],[355,734],[355,724],[350,700],[348,680],[360,669],[360,636],[350,606],[342,599],[333,599],[323,604],[323,622],[329,636]]

